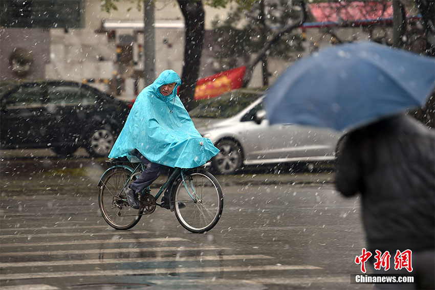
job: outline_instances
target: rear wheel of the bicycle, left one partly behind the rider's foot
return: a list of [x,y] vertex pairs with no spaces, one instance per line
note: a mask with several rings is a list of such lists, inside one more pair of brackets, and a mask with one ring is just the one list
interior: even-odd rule
[[[142,217],[143,208],[135,210],[128,206],[123,192],[132,171],[125,167],[115,167],[103,177],[98,194],[98,202],[104,220],[112,228],[128,230],[133,228]],[[130,180],[129,183],[132,183]]]

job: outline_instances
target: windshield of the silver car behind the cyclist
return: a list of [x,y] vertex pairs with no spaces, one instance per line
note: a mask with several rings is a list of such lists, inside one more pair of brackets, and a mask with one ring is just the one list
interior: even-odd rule
[[200,101],[200,104],[189,112],[189,115],[191,118],[230,118],[257,100],[260,96],[262,96],[262,94],[258,92],[228,92],[219,97]]

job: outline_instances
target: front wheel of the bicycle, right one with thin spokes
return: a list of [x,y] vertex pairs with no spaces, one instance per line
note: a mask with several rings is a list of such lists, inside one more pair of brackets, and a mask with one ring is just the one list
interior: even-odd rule
[[175,186],[172,199],[175,215],[186,230],[207,232],[221,218],[224,208],[222,188],[212,174],[202,169],[186,172],[184,180]]

